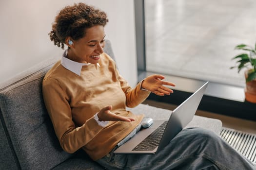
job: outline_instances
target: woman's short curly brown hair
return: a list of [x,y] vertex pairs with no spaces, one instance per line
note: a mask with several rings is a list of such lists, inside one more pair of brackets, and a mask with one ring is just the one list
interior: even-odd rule
[[64,49],[65,39],[67,36],[78,40],[85,36],[86,28],[95,25],[107,24],[108,19],[105,12],[100,11],[93,6],[85,3],[66,6],[60,10],[52,24],[52,31],[49,33],[51,41],[58,47]]

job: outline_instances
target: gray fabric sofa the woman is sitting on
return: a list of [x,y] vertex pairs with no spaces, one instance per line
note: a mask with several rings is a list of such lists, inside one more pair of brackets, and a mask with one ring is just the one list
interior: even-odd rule
[[[114,58],[109,41],[104,50]],[[0,84],[0,170],[104,169],[80,150],[65,153],[55,136],[41,83],[57,60],[47,60]],[[145,104],[128,109],[154,119],[167,119],[171,114],[170,110]],[[218,134],[221,121],[195,116],[188,127],[202,127]]]

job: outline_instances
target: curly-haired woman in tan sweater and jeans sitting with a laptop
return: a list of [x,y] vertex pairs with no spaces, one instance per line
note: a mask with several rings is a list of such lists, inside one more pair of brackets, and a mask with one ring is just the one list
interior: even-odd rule
[[218,136],[202,129],[183,130],[156,155],[113,153],[140,129],[143,119],[125,107],[137,106],[150,92],[170,95],[173,90],[164,85],[175,84],[163,81],[161,75],[151,75],[131,88],[103,51],[107,22],[104,12],[79,3],[63,8],[52,25],[51,40],[68,49],[45,75],[43,97],[63,150],[74,153],[82,148],[111,170],[230,169],[239,163],[253,169]]

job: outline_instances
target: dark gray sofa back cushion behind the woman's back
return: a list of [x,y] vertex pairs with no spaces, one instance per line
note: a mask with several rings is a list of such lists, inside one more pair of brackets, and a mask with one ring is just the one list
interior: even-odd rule
[[2,117],[21,169],[51,169],[71,156],[60,148],[44,107],[41,84],[49,68],[0,94]]

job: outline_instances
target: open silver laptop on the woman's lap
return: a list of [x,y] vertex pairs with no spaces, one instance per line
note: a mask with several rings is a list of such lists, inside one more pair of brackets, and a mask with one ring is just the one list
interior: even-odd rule
[[141,129],[114,153],[155,154],[163,149],[193,119],[208,83],[178,105],[169,120],[154,120],[149,128]]

